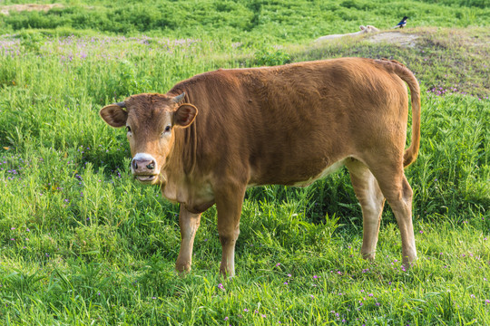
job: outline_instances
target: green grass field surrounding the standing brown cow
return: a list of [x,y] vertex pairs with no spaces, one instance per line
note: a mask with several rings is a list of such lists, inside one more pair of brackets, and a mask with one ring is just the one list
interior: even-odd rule
[[[0,15],[0,324],[490,324],[485,0],[61,3]],[[404,13],[414,47],[313,43]],[[179,208],[132,180],[124,131],[98,111],[220,67],[340,56],[396,59],[421,83],[421,149],[407,168],[417,265],[401,265],[389,207],[377,260],[360,258],[343,169],[304,189],[251,188],[231,280],[218,274],[211,207],[192,272],[177,276]]]

